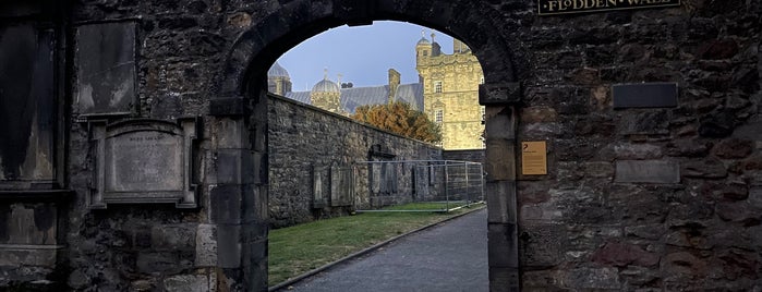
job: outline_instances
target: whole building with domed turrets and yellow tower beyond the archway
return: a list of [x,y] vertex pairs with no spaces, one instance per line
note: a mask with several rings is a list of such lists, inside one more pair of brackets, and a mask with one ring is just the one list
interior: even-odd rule
[[269,90],[343,115],[352,114],[360,106],[404,101],[442,126],[443,148],[484,148],[484,107],[479,105],[479,84],[484,75],[471,49],[455,39],[452,53],[443,53],[432,34],[431,40],[421,37],[415,56],[419,82],[413,84],[401,84],[400,73],[389,69],[386,85],[342,86],[338,80],[330,81],[326,71],[312,90],[291,92],[288,72],[276,62],[268,72]]

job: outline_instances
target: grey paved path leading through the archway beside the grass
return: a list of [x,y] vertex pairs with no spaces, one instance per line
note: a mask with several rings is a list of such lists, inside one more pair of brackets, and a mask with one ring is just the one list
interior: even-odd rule
[[288,291],[488,291],[486,208],[408,235]]

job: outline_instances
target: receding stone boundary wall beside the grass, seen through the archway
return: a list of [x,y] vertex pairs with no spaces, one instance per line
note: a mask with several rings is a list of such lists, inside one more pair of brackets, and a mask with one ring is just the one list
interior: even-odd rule
[[[367,197],[344,206],[329,202],[330,168],[351,168],[374,160],[373,147],[394,155],[389,160],[438,160],[442,149],[352,121],[343,115],[270,95],[268,99],[269,216],[274,227],[346,215],[367,204]],[[365,166],[359,169],[358,188],[367,188]],[[315,205],[314,175],[325,185],[324,204]],[[404,180],[400,178],[401,181]],[[358,192],[366,195],[367,192]]]

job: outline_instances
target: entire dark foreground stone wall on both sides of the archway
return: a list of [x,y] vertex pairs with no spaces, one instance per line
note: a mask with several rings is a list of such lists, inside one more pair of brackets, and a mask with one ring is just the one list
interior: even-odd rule
[[[45,70],[0,81],[38,90],[0,96],[0,289],[265,289],[264,73],[324,29],[392,19],[446,28],[484,71],[492,291],[760,290],[762,8],[681,2],[541,16],[516,0],[5,1],[3,64]],[[613,85],[655,82],[677,84],[675,106],[615,109]],[[90,122],[184,115],[203,118],[197,208],[88,208]],[[521,141],[547,142],[547,175],[517,172]]]

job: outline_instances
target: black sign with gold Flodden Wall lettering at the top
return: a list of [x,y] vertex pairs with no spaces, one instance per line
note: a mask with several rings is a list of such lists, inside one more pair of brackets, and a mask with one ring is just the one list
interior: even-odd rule
[[537,0],[540,15],[679,7],[680,0]]

